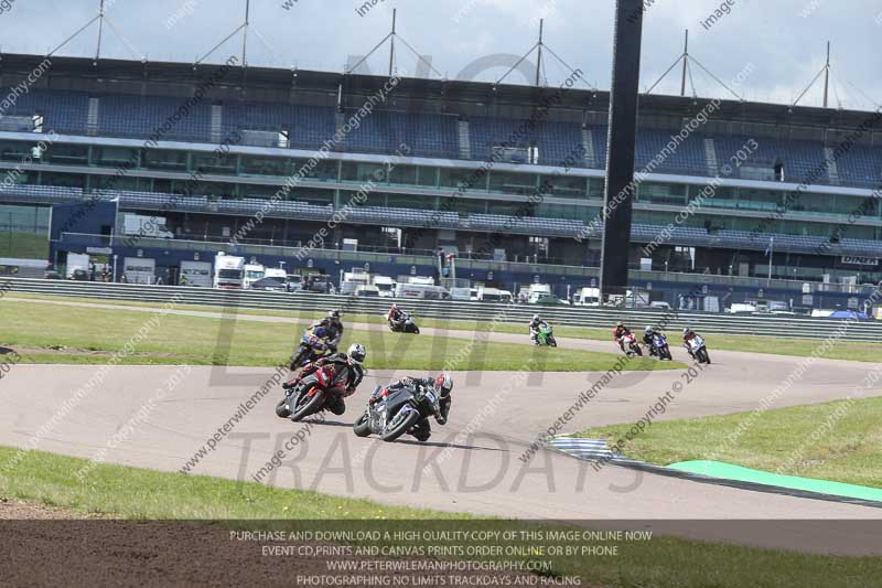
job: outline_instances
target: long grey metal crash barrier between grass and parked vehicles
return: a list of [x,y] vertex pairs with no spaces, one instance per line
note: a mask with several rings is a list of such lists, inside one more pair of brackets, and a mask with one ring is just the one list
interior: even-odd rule
[[[2,278],[0,285],[9,296],[17,292],[50,296],[86,297],[121,304],[131,301],[162,303],[176,298],[179,304],[243,308],[256,310],[283,310],[293,314],[319,316],[332,308],[346,314],[378,316],[388,310],[392,300],[405,306],[419,318],[473,321],[492,320],[519,323],[527,332],[527,323],[537,311],[552,324],[612,329],[617,320],[635,328],[646,324],[663,325],[667,330],[692,329],[708,333],[740,335],[787,336],[794,339],[827,338],[845,341],[874,342],[882,340],[882,323],[876,321],[846,321],[800,316],[736,316],[696,311],[656,309],[615,309],[599,307],[547,307],[540,304],[504,304],[494,302],[357,298],[312,292],[260,292],[249,290],[214,290],[207,288],[173,286],[139,286],[68,280]],[[1,302],[1,301],[0,301]]]

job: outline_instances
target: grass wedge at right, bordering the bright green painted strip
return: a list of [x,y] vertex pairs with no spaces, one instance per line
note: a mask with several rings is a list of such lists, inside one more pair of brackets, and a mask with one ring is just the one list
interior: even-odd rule
[[[781,473],[789,475],[882,488],[882,397],[777,408],[755,420],[751,415],[655,421],[625,445],[624,455],[660,466],[713,459],[770,472],[784,468]],[[749,417],[752,425],[728,440]],[[633,425],[595,427],[576,437],[614,443]]]

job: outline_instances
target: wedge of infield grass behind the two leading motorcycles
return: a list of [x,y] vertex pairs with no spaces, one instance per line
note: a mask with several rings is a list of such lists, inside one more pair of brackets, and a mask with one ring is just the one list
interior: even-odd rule
[[[101,308],[71,308],[3,300],[0,302],[0,345],[15,349],[24,363],[107,363],[155,314]],[[289,323],[234,321],[166,314],[127,355],[126,364],[272,366],[284,362],[302,329]],[[536,348],[515,343],[471,342],[443,336],[406,335],[387,330],[346,331],[342,348],[352,342],[367,350],[370,368],[605,371],[619,360],[613,353]],[[63,346],[51,353],[49,348]],[[96,353],[97,352],[97,353]],[[637,359],[630,370],[669,370],[681,364]]]

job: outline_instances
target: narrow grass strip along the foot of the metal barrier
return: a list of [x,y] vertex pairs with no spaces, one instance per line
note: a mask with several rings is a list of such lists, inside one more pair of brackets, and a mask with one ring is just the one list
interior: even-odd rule
[[[15,298],[28,297],[28,298],[39,298],[45,300],[58,300],[58,301],[65,300],[72,302],[90,302],[90,303],[103,303],[103,304],[121,303],[126,306],[157,308],[157,304],[151,302],[135,302],[135,301],[129,302],[129,301],[106,300],[97,298],[93,299],[93,298],[24,295],[18,292],[11,293],[10,296],[13,296]],[[223,307],[212,307],[212,306],[179,304],[176,308],[179,308],[180,310],[223,312]],[[247,308],[237,309],[235,312],[238,314],[266,316],[266,317],[291,318],[299,316],[297,312],[291,312],[291,311],[272,311],[272,310],[247,309]],[[427,328],[433,327],[438,329],[449,329],[455,331],[470,331],[470,332],[476,332],[476,331],[483,332],[493,329],[495,332],[498,333],[515,333],[515,334],[526,335],[526,325],[521,323],[496,323],[494,325],[490,320],[477,322],[477,321],[463,321],[455,319],[453,320],[427,319],[427,318],[420,318],[418,314],[415,316],[420,327],[427,327]],[[385,322],[385,320],[381,317],[369,316],[369,314],[348,314],[344,318],[344,321],[366,322],[374,324],[380,324]],[[596,341],[611,340],[612,323],[610,324],[610,329],[568,327],[566,324],[556,324],[553,327],[555,327],[555,335],[559,339],[571,338],[571,339],[589,339]],[[635,329],[642,329],[645,325],[635,324],[632,327]],[[671,343],[677,345],[679,333],[669,332],[668,334],[670,335]],[[793,355],[798,357],[807,357],[814,354],[820,344],[820,341],[817,340],[788,339],[788,338],[765,336],[765,335],[732,335],[732,334],[719,334],[719,333],[718,334],[702,333],[702,336],[704,336],[706,341],[708,342],[708,348],[710,349],[711,353],[713,353],[713,350],[723,350],[723,351],[744,351],[744,352],[765,353],[773,355]],[[612,343],[611,343],[611,349],[612,349]],[[818,356],[830,360],[878,362],[879,357],[882,356],[882,343],[839,341],[835,345],[830,346],[830,349],[825,350],[825,353]]]

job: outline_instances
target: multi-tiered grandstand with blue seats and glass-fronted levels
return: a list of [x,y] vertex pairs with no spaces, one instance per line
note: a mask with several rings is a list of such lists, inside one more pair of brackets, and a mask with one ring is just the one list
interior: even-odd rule
[[[0,95],[40,61],[3,55]],[[212,76],[218,81],[204,98],[174,116]],[[265,211],[262,222],[237,239],[239,253],[249,255],[261,246],[304,245],[372,182],[364,201],[334,223],[327,250],[314,254],[311,267],[336,271],[333,249],[345,238],[357,239],[356,259],[364,254],[376,264],[383,254],[390,274],[430,265],[430,253],[441,246],[462,258],[474,254],[494,261],[473,267],[467,277],[476,280],[561,284],[564,276],[580,276],[587,281],[592,274],[573,268],[596,265],[602,233],[589,227],[602,206],[606,93],[404,79],[343,133],[385,82],[323,72],[54,58],[39,86],[0,116],[0,167],[18,170],[14,182],[0,189],[0,204],[25,215],[58,205],[114,206],[110,226],[105,215],[82,214],[53,234],[50,260],[63,264],[67,253],[100,242],[115,254],[155,257],[160,267],[174,268],[200,252],[127,250],[112,240],[120,215],[159,214],[175,238],[213,242],[203,252],[209,255]],[[559,99],[545,111],[540,105],[556,92]],[[708,103],[642,96],[637,169],[657,158]],[[711,120],[638,185],[632,266],[766,278],[766,252],[774,243],[774,278],[879,281],[876,119],[859,111],[720,101]],[[36,140],[50,132],[56,135],[52,145],[34,154]],[[335,135],[341,140],[329,142]],[[154,142],[144,147],[150,138]],[[745,150],[750,141],[757,148]],[[323,146],[326,157],[268,205]],[[407,157],[390,160],[401,146]],[[736,153],[741,159],[734,164]],[[728,163],[731,170],[722,174]],[[713,196],[677,221],[717,175]],[[97,224],[93,216],[105,221]],[[642,250],[669,225],[669,238],[650,255]]]

